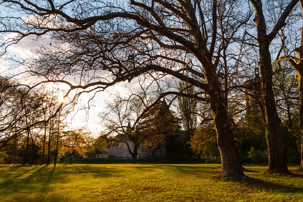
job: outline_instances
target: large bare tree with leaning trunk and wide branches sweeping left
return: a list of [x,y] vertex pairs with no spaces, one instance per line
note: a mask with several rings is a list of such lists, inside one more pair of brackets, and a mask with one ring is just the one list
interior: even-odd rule
[[[31,63],[29,71],[43,82],[98,91],[140,75],[161,78],[164,74],[194,85],[199,89],[194,97],[209,100],[212,109],[221,177],[244,177],[227,103],[228,73],[237,71],[242,54],[242,47],[229,54],[229,44],[242,35],[240,29],[251,14],[243,11],[244,1],[130,0],[110,6],[76,1],[1,3],[27,15],[21,22],[12,16],[1,18],[1,32],[15,33],[3,47],[47,33],[55,41],[40,48],[38,62],[24,62]],[[79,83],[67,81],[66,75],[79,76]]]

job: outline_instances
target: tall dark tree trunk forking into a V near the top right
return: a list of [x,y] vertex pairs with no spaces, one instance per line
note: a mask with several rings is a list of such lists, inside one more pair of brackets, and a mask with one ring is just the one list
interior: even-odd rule
[[[267,23],[263,12],[261,0],[249,0],[255,8],[254,22],[257,27],[257,41],[259,47],[259,67],[261,70],[262,98],[264,108],[265,132],[268,144],[268,158],[270,173],[289,174],[287,161],[284,154],[283,141],[281,135],[281,119],[278,116],[275,97],[273,92],[273,67],[271,60],[270,45],[279,30],[285,26],[285,20],[298,0],[290,1],[281,15],[275,20],[275,25],[270,33],[267,33]],[[283,3],[284,4],[284,3]]]

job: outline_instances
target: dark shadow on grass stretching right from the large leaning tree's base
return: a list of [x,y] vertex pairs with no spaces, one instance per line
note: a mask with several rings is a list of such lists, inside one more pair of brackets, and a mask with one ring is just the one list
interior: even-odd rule
[[286,186],[273,182],[266,182],[256,178],[248,178],[247,183],[249,186],[255,187],[257,189],[266,189],[273,192],[303,193],[302,187]]

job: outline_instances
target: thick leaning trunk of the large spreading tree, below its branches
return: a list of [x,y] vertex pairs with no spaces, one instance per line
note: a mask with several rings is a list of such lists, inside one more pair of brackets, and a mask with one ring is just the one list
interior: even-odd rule
[[217,144],[221,156],[221,175],[219,177],[245,178],[242,170],[240,157],[235,145],[232,131],[231,118],[228,117],[224,99],[218,96],[220,93],[211,96],[211,109],[217,132]]

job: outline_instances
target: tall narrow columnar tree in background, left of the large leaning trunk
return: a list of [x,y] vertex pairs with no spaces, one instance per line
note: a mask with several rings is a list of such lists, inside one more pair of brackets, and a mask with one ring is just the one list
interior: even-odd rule
[[[186,94],[194,94],[194,87],[179,81],[179,91],[183,91]],[[189,140],[193,136],[197,125],[197,100],[190,97],[178,97],[178,106],[181,112],[182,125],[185,130],[187,156],[191,158]]]

